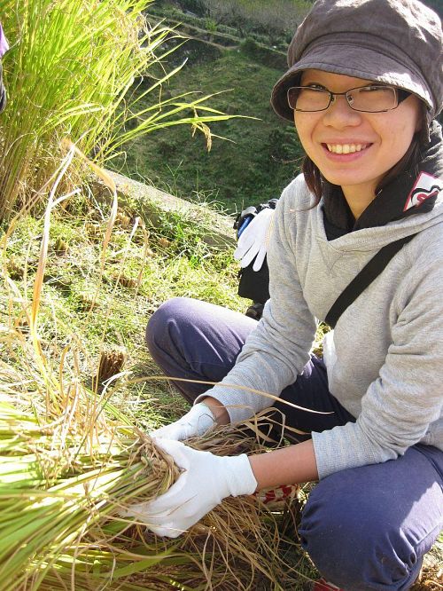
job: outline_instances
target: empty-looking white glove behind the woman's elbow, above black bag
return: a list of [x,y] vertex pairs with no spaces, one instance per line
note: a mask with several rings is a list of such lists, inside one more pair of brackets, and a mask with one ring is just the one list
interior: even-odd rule
[[273,217],[274,209],[261,209],[260,213],[253,218],[253,221],[240,234],[234,258],[240,261],[243,268],[247,267],[256,256],[253,271],[260,271],[268,250]]

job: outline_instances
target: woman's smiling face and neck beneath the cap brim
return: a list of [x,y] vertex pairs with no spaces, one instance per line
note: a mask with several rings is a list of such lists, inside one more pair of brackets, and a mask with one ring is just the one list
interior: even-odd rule
[[426,125],[420,100],[409,93],[399,100],[393,86],[370,86],[370,81],[314,69],[303,71],[301,84],[294,103],[301,144],[323,177],[341,186],[357,219]]

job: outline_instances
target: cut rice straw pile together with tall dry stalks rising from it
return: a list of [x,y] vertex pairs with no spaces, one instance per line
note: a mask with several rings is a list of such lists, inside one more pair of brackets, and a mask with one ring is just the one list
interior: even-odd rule
[[[229,498],[178,540],[160,540],[121,517],[129,504],[166,492],[179,474],[106,391],[83,385],[80,347],[68,344],[54,359],[39,336],[51,211],[63,200],[57,187],[74,154],[71,146],[53,181],[32,299],[6,272],[16,220],[0,244],[0,591],[291,588],[291,569],[276,553],[278,516],[254,497]],[[115,187],[97,173],[114,195],[106,247]],[[189,443],[220,454],[261,451],[241,429]]]

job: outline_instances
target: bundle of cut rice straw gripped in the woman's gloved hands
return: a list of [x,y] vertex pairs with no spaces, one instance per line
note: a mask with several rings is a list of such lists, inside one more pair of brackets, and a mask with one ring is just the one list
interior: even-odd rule
[[[60,420],[42,422],[18,409],[23,397],[1,399],[2,591],[255,589],[260,579],[283,578],[276,519],[253,497],[226,500],[178,541],[122,519],[121,508],[165,492],[177,470],[135,429],[68,426],[82,402],[73,398]],[[231,430],[192,445],[242,453],[251,443]]]

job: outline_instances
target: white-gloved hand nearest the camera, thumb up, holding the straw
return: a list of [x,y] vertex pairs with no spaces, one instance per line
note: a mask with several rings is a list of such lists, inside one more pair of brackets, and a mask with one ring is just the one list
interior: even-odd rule
[[124,516],[135,517],[159,536],[176,538],[225,497],[252,494],[257,487],[245,453],[220,457],[198,452],[180,441],[158,439],[155,444],[185,471],[167,493],[130,506]]

